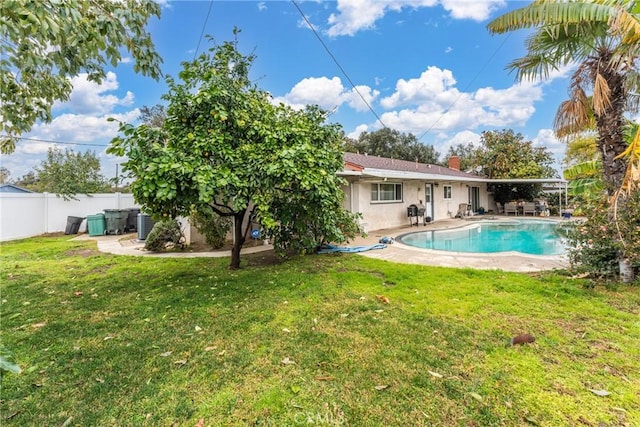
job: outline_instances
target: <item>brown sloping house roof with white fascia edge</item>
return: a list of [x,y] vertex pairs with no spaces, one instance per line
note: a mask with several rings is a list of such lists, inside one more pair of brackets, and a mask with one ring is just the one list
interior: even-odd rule
[[478,175],[428,163],[390,159],[368,154],[344,153],[343,175],[439,181],[486,181]]

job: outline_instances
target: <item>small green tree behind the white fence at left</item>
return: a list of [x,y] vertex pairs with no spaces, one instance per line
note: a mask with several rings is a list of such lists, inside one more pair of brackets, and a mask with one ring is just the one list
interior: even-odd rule
[[50,148],[47,159],[35,168],[37,191],[55,193],[65,200],[76,194],[100,193],[109,190],[109,184],[100,173],[100,160],[93,151],[76,153]]

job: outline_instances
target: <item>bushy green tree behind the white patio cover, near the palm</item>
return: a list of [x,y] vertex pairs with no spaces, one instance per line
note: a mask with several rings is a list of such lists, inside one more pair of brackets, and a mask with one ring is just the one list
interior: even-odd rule
[[[492,179],[553,178],[553,156],[545,147],[534,147],[520,133],[511,129],[485,131],[480,146],[473,155],[473,168]],[[539,184],[495,184],[492,188],[496,202],[514,199],[531,200],[540,193]]]

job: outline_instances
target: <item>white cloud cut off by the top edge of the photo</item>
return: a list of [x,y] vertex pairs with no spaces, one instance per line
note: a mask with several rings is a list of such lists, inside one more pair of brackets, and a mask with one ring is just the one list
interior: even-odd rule
[[388,12],[437,5],[454,19],[483,21],[505,4],[504,0],[338,0],[338,12],[329,16],[327,34],[331,37],[353,36],[358,31],[375,28],[376,21]]

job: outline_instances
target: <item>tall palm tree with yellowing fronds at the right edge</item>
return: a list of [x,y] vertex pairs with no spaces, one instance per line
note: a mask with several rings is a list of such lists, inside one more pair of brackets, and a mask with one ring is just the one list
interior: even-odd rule
[[620,156],[627,148],[624,113],[637,111],[640,101],[640,76],[634,68],[640,57],[640,21],[635,9],[635,2],[625,0],[539,0],[488,25],[493,33],[537,28],[527,39],[527,55],[508,65],[518,79],[547,78],[553,70],[578,64],[570,99],[560,105],[554,128],[566,136],[595,120],[609,195],[622,186],[627,169]]

